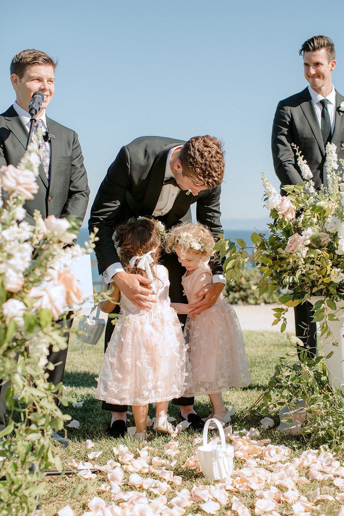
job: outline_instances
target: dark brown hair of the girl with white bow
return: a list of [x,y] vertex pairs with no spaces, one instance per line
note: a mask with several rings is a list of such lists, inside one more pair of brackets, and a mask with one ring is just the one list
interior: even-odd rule
[[[150,264],[153,278],[156,278],[154,265],[158,263],[160,256],[159,230],[154,219],[138,219],[123,222],[115,228],[116,236],[114,242],[119,246],[119,257],[124,270],[129,274],[139,274],[147,278],[145,270],[138,269],[137,265],[130,265],[130,258],[142,256],[156,248],[152,257],[154,262]],[[145,288],[152,288],[151,285],[143,285]]]

